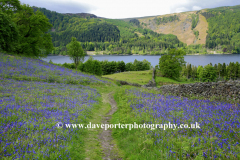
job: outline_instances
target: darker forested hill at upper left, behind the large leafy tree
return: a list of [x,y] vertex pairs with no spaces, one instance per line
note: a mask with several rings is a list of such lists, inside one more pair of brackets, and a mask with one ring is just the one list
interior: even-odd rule
[[[34,8],[37,10],[38,8]],[[80,42],[119,41],[120,31],[110,23],[87,14],[60,14],[39,8],[53,25],[51,30],[54,46],[66,45],[72,37]]]

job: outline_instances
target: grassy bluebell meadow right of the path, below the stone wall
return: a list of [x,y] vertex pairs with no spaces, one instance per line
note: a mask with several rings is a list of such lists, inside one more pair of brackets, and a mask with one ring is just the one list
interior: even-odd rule
[[[240,105],[122,89],[113,123],[195,124],[200,128],[114,130],[129,159],[240,159]],[[190,125],[189,125],[190,126]]]

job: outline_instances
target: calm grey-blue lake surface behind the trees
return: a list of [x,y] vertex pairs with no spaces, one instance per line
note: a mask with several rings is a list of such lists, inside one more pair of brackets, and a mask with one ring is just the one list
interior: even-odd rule
[[[135,59],[142,61],[146,59],[151,63],[152,66],[158,65],[159,58],[161,56],[138,56],[138,55],[131,55],[131,56],[110,56],[110,55],[96,55],[92,56],[93,59],[99,61],[124,61],[125,63],[134,62]],[[85,57],[85,61],[88,60],[89,56]],[[53,63],[73,63],[68,56],[48,56],[47,58],[43,58],[44,61],[49,62],[52,60]],[[190,63],[195,66],[205,66],[209,63],[218,64],[218,63],[226,63],[229,64],[230,62],[239,62],[240,63],[240,54],[210,54],[210,55],[187,55],[184,56],[184,60],[187,63]]]

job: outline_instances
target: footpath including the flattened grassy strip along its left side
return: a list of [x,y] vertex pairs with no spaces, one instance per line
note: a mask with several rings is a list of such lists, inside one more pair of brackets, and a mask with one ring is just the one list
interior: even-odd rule
[[[109,124],[112,114],[117,110],[113,92],[109,92],[102,92],[101,107],[93,112],[92,118],[89,120],[92,124]],[[89,132],[85,137],[85,160],[121,160],[110,129],[89,128],[88,130]]]

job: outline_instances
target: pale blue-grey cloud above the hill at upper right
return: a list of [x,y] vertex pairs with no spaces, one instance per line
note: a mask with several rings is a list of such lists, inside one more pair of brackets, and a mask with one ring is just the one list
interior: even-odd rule
[[171,13],[193,11],[197,8],[217,8],[222,6],[235,6],[240,2],[236,0],[189,0],[187,4],[171,7]]

